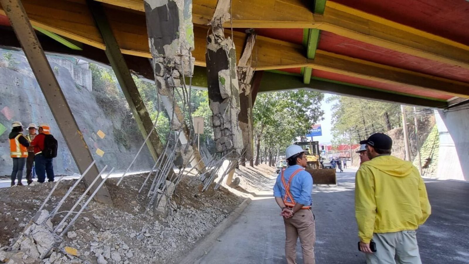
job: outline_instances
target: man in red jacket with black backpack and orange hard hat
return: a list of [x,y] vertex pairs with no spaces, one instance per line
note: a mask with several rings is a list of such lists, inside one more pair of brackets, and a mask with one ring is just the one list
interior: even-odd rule
[[36,174],[38,175],[38,182],[45,182],[45,174],[47,173],[47,180],[54,181],[54,169],[52,158],[46,158],[42,154],[44,149],[45,135],[50,135],[50,127],[47,123],[41,123],[38,126],[39,134],[32,140],[31,146],[34,147],[34,163],[36,164]]

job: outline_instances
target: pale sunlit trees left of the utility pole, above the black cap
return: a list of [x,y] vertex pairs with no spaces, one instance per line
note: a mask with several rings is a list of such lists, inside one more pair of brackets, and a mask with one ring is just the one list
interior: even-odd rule
[[334,144],[357,143],[372,133],[387,132],[401,126],[398,104],[332,96],[332,132]]

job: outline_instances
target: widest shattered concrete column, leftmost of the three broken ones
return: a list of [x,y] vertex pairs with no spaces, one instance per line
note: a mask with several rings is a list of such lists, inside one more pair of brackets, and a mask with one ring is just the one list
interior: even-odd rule
[[[185,90],[184,77],[191,76],[194,68],[195,59],[191,54],[194,50],[192,1],[144,0],[144,6],[155,83],[171,118],[170,129],[182,131],[181,144],[189,144],[192,150],[185,154],[194,153],[193,165],[198,164],[197,169],[204,171],[202,156],[190,140],[190,128],[185,124],[182,107],[176,101],[177,95],[185,93],[174,92],[181,87]],[[189,105],[187,98],[180,100],[183,104],[186,100]]]

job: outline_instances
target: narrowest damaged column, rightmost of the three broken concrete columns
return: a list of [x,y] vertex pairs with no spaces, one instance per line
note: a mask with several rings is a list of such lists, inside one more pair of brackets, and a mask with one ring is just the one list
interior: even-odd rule
[[250,32],[246,45],[241,55],[241,59],[238,62],[238,80],[240,95],[239,101],[241,106],[241,111],[238,116],[239,127],[242,131],[242,141],[244,147],[244,155],[242,156],[242,165],[245,166],[246,160],[253,166],[253,144],[254,144],[254,135],[252,132],[252,96],[251,96],[251,83],[254,76],[254,69],[251,68],[251,53],[252,48],[256,42],[256,34]]

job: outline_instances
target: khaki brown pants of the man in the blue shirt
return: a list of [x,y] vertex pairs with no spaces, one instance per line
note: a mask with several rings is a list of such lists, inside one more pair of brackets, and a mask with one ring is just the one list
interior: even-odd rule
[[296,264],[296,241],[300,237],[303,264],[315,264],[314,242],[316,227],[311,210],[299,210],[291,218],[283,218],[285,223],[285,256],[287,264]]

